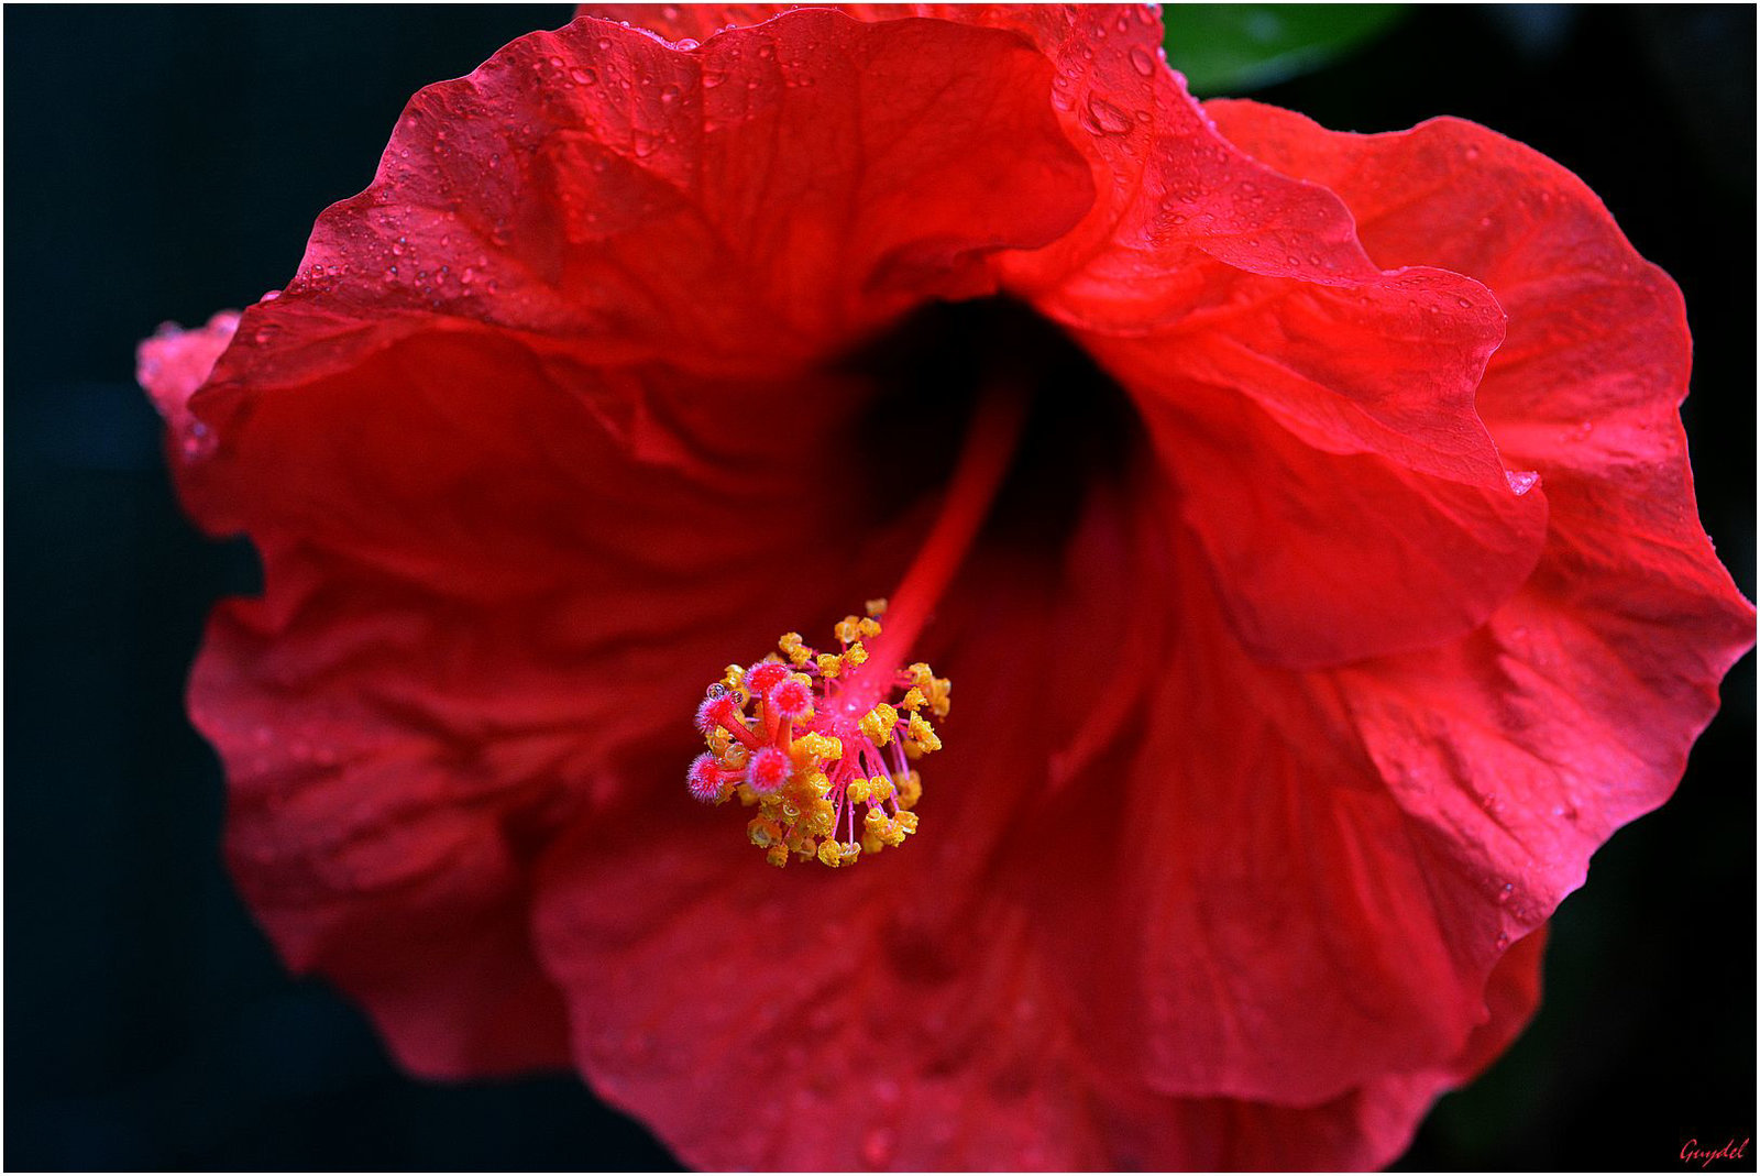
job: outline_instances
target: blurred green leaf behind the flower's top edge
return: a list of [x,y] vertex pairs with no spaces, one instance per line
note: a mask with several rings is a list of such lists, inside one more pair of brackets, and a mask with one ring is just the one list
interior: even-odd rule
[[1404,4],[1169,4],[1167,60],[1192,93],[1244,93],[1329,65],[1385,33]]

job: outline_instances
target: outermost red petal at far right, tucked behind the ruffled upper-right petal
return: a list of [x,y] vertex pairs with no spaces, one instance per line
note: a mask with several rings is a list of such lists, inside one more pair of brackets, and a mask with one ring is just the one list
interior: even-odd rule
[[1401,803],[1459,870],[1512,887],[1519,935],[1609,833],[1668,797],[1755,637],[1693,507],[1679,292],[1575,176],[1482,127],[1348,136],[1246,102],[1214,111],[1332,185],[1380,261],[1424,250],[1510,313],[1480,407],[1547,486],[1538,569],[1471,641],[1343,681]]

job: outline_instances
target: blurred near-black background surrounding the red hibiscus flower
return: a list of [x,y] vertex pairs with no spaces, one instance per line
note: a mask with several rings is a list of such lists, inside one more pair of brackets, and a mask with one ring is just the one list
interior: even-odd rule
[[[220,870],[220,775],[181,709],[202,614],[252,563],[180,516],[132,380],[160,320],[289,278],[410,93],[565,19],[5,11],[11,1169],[672,1165],[572,1077],[405,1079],[359,1012],[283,974]],[[1748,5],[1419,9],[1255,95],[1352,130],[1463,114],[1607,201],[1686,290],[1700,511],[1749,599],[1753,49]],[[1404,1165],[1672,1169],[1690,1137],[1753,1134],[1753,681],[1749,657],[1679,796],[1559,910],[1533,1028]]]

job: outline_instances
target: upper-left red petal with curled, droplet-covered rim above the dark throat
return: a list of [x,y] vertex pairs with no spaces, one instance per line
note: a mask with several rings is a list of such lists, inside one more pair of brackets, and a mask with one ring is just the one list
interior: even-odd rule
[[[1086,211],[1047,86],[1019,39],[940,21],[806,11],[693,51],[595,19],[532,33],[410,102],[216,382],[473,327],[593,364],[797,370],[993,290],[993,254]],[[208,394],[215,428],[227,410]]]

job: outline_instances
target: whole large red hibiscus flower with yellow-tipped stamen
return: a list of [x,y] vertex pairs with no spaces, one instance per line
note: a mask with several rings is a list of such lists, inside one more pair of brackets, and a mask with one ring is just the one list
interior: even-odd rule
[[143,347],[289,965],[706,1167],[1387,1162],[1751,644],[1674,285],[1148,9],[607,14]]

